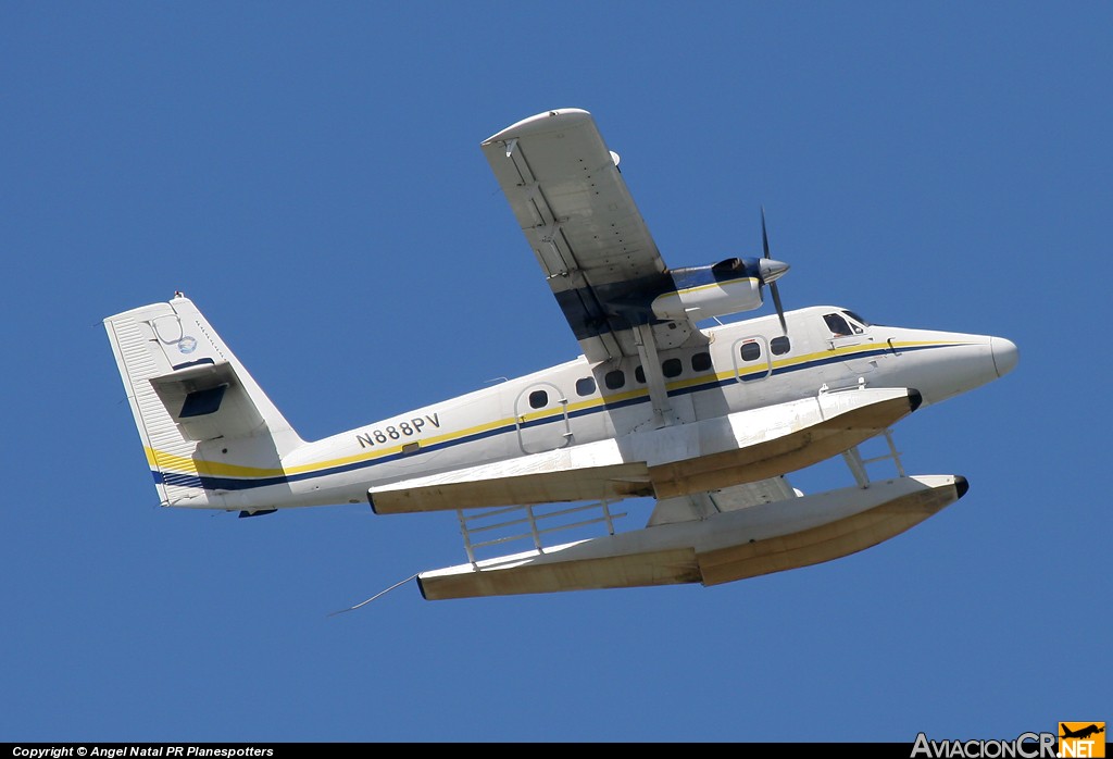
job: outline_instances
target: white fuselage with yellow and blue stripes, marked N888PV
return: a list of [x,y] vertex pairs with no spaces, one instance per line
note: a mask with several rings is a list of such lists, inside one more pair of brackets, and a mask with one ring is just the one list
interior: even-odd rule
[[[787,337],[769,316],[709,328],[703,346],[661,352],[664,423],[857,386],[915,388],[926,405],[996,379],[1016,363],[1016,346],[999,337],[868,325],[838,307],[786,316]],[[252,511],[366,503],[373,485],[650,433],[661,415],[640,363],[591,365],[581,356],[305,443],[283,459],[282,471],[209,479],[205,505]]]

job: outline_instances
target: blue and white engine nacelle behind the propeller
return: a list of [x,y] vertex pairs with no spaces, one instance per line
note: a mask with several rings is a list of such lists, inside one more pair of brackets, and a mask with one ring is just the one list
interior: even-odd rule
[[653,315],[660,319],[696,322],[754,310],[764,303],[761,263],[757,258],[727,258],[711,266],[672,269],[670,274],[676,289],[657,296],[652,303]]

